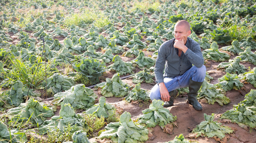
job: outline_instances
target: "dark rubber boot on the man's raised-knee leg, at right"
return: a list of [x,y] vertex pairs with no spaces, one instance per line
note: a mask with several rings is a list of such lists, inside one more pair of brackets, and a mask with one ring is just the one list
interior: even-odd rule
[[191,104],[196,110],[203,110],[202,105],[197,100],[197,91],[202,86],[203,82],[193,81],[191,78],[189,79],[189,93],[187,97],[187,101]]

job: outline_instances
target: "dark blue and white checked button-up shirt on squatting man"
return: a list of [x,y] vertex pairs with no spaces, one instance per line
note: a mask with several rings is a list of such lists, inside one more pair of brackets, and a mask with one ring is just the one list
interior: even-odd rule
[[188,49],[186,53],[181,52],[181,57],[179,57],[178,49],[173,46],[174,41],[175,38],[165,41],[158,50],[154,71],[158,84],[163,82],[164,77],[174,78],[184,74],[192,67],[192,64],[198,68],[203,66],[204,59],[199,43],[188,37],[185,45]]

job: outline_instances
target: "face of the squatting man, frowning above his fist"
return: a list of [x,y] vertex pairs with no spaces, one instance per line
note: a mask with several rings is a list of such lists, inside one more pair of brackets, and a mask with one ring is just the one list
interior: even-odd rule
[[174,27],[175,40],[181,41],[184,37],[184,41],[187,41],[187,37],[190,35],[191,31],[185,27],[185,25],[179,25]]

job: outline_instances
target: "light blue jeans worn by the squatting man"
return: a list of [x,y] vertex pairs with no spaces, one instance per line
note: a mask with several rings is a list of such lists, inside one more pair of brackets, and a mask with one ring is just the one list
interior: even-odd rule
[[[188,87],[189,79],[191,78],[193,81],[203,82],[206,74],[206,67],[203,65],[201,68],[197,68],[196,66],[191,67],[184,74],[176,76],[174,78],[165,77],[163,79],[164,85],[167,88],[168,92],[178,89]],[[159,85],[156,84],[150,91],[150,99],[151,100],[162,100],[160,95]]]

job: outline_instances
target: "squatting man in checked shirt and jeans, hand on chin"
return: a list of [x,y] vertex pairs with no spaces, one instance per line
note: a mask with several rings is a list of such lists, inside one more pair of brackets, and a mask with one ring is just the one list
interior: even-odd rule
[[175,24],[174,33],[175,38],[159,48],[154,71],[157,84],[151,89],[150,98],[163,100],[163,106],[170,107],[177,95],[176,89],[189,87],[188,103],[196,110],[203,110],[196,98],[206,74],[200,45],[188,37],[190,25],[185,20]]

